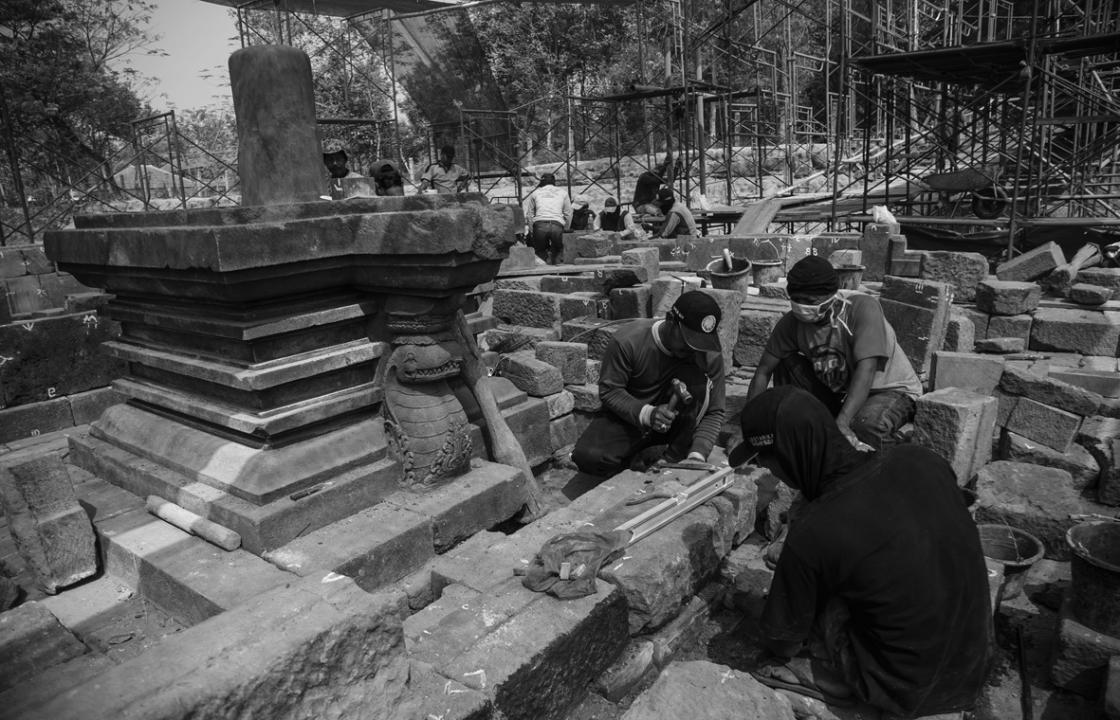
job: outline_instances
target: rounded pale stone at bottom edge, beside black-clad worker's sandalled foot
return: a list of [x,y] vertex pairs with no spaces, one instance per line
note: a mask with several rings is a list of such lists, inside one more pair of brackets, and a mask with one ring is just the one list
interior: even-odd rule
[[790,701],[749,673],[708,661],[673,662],[622,720],[794,720]]

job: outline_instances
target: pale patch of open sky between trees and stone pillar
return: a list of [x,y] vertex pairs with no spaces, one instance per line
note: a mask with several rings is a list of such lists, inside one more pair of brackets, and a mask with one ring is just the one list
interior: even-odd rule
[[141,88],[158,110],[232,102],[226,62],[241,47],[230,8],[203,0],[152,0],[149,32],[167,57],[133,54],[129,65],[151,82]]

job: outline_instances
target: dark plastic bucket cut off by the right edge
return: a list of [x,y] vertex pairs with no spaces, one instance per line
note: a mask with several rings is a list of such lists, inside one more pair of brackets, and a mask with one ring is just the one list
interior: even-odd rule
[[1120,637],[1120,523],[1074,525],[1065,542],[1072,551],[1073,616],[1090,629]]

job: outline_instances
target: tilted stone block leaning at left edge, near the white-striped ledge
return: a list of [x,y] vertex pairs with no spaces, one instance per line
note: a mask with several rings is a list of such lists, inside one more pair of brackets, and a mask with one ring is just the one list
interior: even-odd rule
[[97,572],[93,526],[57,456],[0,466],[0,505],[20,557],[46,592]]

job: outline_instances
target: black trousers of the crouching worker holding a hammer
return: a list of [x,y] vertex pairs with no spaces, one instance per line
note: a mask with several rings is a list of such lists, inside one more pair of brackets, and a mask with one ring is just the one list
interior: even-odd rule
[[[692,402],[687,406],[676,408],[676,420],[665,432],[654,432],[648,428],[632,426],[609,410],[591,421],[584,434],[576,441],[571,459],[584,473],[610,477],[626,470],[631,461],[646,448],[668,446],[665,459],[676,461],[684,459],[692,447],[697,423],[708,410],[708,375],[694,365],[683,365],[674,374],[684,383],[692,395]],[[657,402],[669,402],[672,396],[672,384],[665,383]]]

